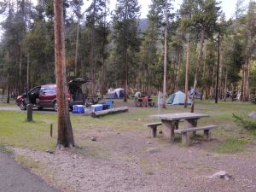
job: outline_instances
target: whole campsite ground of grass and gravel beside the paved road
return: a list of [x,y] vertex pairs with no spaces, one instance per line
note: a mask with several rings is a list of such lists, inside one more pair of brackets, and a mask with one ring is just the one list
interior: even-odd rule
[[[26,113],[0,111],[0,142],[14,151],[17,160],[32,168],[49,184],[62,191],[248,191],[256,189],[255,137],[236,125],[232,113],[243,115],[256,111],[256,106],[241,102],[198,101],[197,113],[211,118],[200,125],[218,125],[210,142],[203,134],[193,138],[189,148],[170,143],[161,134],[152,137],[144,124],[157,108],[136,108],[133,100],[114,100],[114,107],[129,107],[118,113],[93,119],[71,114],[78,148],[55,151],[56,114],[35,112],[27,123]],[[183,106],[160,109],[160,113],[188,112]],[[9,123],[11,120],[11,124]],[[49,137],[49,124],[54,125]],[[22,131],[22,133],[20,132]],[[96,141],[90,138],[95,137]],[[230,142],[232,141],[232,142]],[[9,147],[12,146],[12,147]],[[237,150],[230,150],[230,148]],[[26,165],[26,162],[30,162]],[[228,164],[226,162],[229,162]],[[172,172],[170,172],[172,170]],[[209,178],[225,171],[230,180]],[[162,179],[170,181],[165,184]],[[169,183],[169,182],[168,182]],[[224,190],[223,190],[224,189]]]

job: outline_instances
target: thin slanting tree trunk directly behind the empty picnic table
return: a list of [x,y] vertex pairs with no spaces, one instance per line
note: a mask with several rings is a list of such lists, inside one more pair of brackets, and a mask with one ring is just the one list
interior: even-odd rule
[[197,75],[199,72],[199,67],[201,66],[201,60],[202,60],[202,49],[203,49],[203,45],[204,45],[204,40],[205,40],[205,28],[203,27],[201,29],[201,43],[200,43],[200,51],[197,57],[197,63],[196,63],[196,67],[195,67],[195,79],[194,79],[194,94],[192,96],[192,106],[191,106],[191,113],[194,113],[195,110],[195,91],[197,88]]

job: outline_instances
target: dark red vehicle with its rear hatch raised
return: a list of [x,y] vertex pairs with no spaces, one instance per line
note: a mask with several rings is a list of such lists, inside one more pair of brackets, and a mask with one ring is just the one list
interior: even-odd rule
[[[68,93],[67,100],[69,108],[73,108],[73,105],[84,105],[84,93],[81,85],[89,82],[88,78],[73,79],[67,83]],[[44,84],[39,85],[27,93],[18,96],[16,99],[17,105],[21,110],[26,110],[26,105],[31,103],[33,108],[53,108],[58,110],[57,98],[56,98],[56,84]]]

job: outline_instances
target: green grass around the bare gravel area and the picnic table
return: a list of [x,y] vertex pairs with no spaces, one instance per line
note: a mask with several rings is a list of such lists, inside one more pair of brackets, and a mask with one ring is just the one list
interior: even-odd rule
[[[133,101],[129,102],[133,104]],[[120,105],[122,101],[114,101],[114,103]],[[160,113],[189,112],[189,110],[184,109],[183,106],[173,106],[160,109]],[[201,119],[199,125],[218,125],[218,129],[212,133],[213,137],[226,139],[242,136],[246,141],[254,139],[255,136],[250,135],[240,125],[236,125],[232,117],[234,111],[238,115],[247,114],[256,111],[256,105],[242,102],[218,102],[218,104],[215,104],[213,101],[199,100],[196,100],[195,104],[195,112],[211,115],[210,118]],[[143,124],[154,120],[149,116],[156,113],[158,113],[157,108],[132,108],[128,113],[118,113],[98,119],[71,113],[75,142],[83,148],[86,154],[92,157],[108,158],[111,151],[118,148],[116,143],[111,141],[95,143],[90,141],[90,137],[96,136],[96,134],[101,137],[108,137],[110,133],[125,134],[125,131],[134,131],[139,134],[145,131]],[[57,137],[56,113],[35,112],[33,113],[33,122],[26,122],[26,112],[21,111],[0,111],[0,117],[0,146],[9,145],[38,150],[55,149]],[[53,124],[54,127],[53,137],[49,137],[50,124]],[[235,146],[235,148],[232,146]],[[240,140],[227,139],[214,150],[220,153],[233,153],[232,151],[235,153],[243,150],[241,146],[243,146],[243,143]],[[109,151],[109,148],[111,148],[111,151]]]

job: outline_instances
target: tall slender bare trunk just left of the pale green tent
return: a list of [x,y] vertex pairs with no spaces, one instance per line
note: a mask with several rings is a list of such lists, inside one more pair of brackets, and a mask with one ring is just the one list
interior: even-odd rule
[[166,0],[166,27],[165,27],[165,56],[164,56],[164,81],[163,81],[163,103],[162,108],[166,108],[166,73],[167,73],[167,0]]

